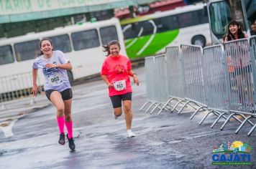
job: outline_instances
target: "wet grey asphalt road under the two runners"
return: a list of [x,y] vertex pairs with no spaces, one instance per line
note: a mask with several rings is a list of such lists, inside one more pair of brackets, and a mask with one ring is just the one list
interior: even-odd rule
[[[67,143],[58,145],[55,108],[45,97],[38,97],[34,107],[29,100],[10,103],[14,108],[0,112],[0,124],[15,119],[12,137],[5,137],[0,127],[0,168],[256,168],[256,131],[248,137],[250,125],[235,135],[238,122],[229,122],[220,131],[223,120],[211,129],[215,117],[210,116],[199,126],[204,112],[193,120],[191,112],[139,112],[146,101],[145,69],[134,70],[141,81],[139,87],[133,85],[132,96],[136,137],[126,137],[124,116],[114,120],[111,115],[103,81],[76,84],[72,109],[76,151],[70,151]],[[252,146],[254,165],[211,165],[212,149],[234,140]]]

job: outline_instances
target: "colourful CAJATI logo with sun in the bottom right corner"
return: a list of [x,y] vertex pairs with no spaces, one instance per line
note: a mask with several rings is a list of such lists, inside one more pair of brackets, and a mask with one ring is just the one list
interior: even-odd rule
[[252,147],[242,141],[222,143],[212,150],[212,165],[252,165]]

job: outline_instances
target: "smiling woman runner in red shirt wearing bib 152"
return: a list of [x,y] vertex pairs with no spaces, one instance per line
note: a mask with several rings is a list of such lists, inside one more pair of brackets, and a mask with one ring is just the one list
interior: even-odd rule
[[109,97],[111,99],[114,118],[122,115],[122,103],[127,125],[127,137],[134,137],[132,132],[132,86],[129,77],[133,77],[134,83],[139,85],[137,74],[132,71],[129,59],[119,54],[120,44],[111,41],[104,46],[104,52],[108,52],[101,67],[101,77],[109,87]]

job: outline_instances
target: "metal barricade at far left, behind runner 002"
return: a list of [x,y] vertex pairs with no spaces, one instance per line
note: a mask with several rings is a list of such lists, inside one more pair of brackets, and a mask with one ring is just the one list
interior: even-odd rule
[[[37,84],[42,91],[44,79],[42,73],[38,74]],[[32,72],[14,74],[0,78],[0,102],[30,97],[32,89]]]

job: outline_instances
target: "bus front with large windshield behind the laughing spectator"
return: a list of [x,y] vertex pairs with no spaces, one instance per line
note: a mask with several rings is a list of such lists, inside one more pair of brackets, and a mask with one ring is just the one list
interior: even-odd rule
[[[244,31],[250,36],[251,24],[256,20],[256,0],[240,0]],[[210,0],[207,3],[209,23],[211,28],[211,39],[213,44],[222,43],[222,37],[227,34],[227,25],[232,20],[229,1]]]

